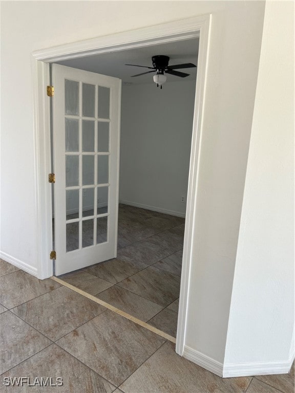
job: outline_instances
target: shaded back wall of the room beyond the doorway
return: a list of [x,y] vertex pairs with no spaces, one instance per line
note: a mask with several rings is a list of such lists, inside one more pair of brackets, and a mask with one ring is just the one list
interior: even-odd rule
[[123,85],[120,201],[185,216],[195,90],[183,79]]

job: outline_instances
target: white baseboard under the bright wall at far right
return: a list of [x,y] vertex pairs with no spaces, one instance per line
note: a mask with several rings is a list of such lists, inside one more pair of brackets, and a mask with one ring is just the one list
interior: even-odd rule
[[288,374],[290,367],[291,365],[289,361],[224,364],[222,377],[231,378],[269,374]]

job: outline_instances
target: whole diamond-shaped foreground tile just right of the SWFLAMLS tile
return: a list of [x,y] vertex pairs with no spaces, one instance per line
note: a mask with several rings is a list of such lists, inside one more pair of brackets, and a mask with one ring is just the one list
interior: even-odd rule
[[164,342],[160,336],[109,310],[57,341],[116,386]]

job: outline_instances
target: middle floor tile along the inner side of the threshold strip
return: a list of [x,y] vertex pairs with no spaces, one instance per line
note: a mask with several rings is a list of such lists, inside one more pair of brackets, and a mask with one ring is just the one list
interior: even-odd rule
[[96,297],[144,322],[148,321],[154,315],[163,310],[161,305],[118,286],[114,286],[107,291],[101,292]]

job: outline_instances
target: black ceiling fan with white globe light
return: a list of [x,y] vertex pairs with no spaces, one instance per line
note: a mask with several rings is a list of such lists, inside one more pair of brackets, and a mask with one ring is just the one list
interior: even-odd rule
[[156,74],[154,75],[154,82],[157,83],[157,87],[161,86],[161,89],[162,89],[162,84],[166,81],[166,76],[164,75],[164,73],[170,74],[170,75],[175,75],[175,76],[180,76],[181,78],[185,78],[186,76],[189,76],[189,74],[186,74],[184,72],[175,71],[175,70],[182,69],[182,68],[195,68],[195,67],[197,67],[193,63],[168,65],[169,60],[170,60],[170,58],[168,56],[157,55],[157,56],[152,57],[153,67],[146,67],[145,65],[137,65],[137,64],[125,64],[125,65],[133,65],[134,67],[143,67],[143,68],[149,68],[149,69],[153,70],[153,71],[146,71],[141,74],[132,75],[132,78],[135,76],[150,74],[151,72],[156,71]]

